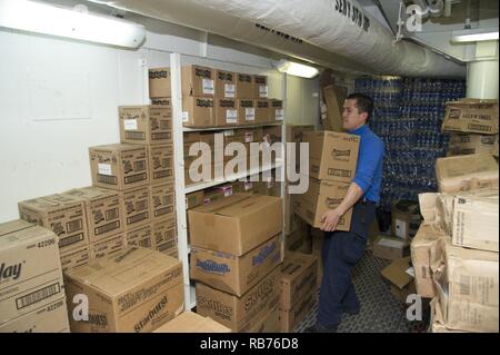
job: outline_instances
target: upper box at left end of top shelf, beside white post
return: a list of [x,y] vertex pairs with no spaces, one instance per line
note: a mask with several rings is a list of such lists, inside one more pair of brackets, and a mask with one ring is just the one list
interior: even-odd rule
[[182,97],[213,97],[216,93],[214,70],[208,67],[182,67]]

